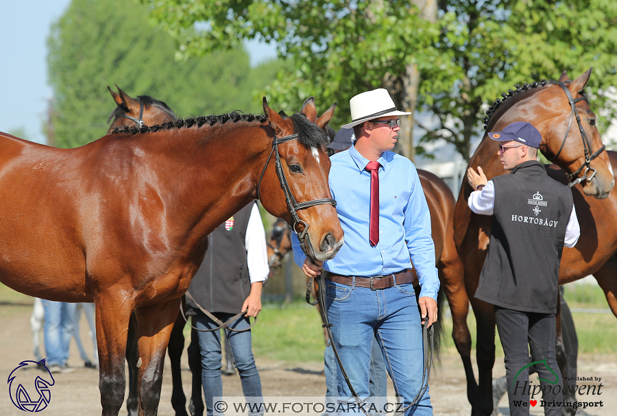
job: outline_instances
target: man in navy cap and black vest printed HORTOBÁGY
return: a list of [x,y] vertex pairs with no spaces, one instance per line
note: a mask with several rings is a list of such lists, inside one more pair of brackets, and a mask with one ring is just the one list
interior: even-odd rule
[[[530,123],[512,123],[489,137],[500,142],[497,154],[511,172],[488,181],[481,167],[477,173],[467,171],[475,189],[469,208],[493,216],[475,297],[495,306],[510,415],[529,415],[540,399],[545,415],[561,415],[564,384],[555,359],[555,313],[561,252],[564,245],[574,247],[580,235],[572,192],[537,162],[542,136]],[[528,345],[540,385],[529,382]]]

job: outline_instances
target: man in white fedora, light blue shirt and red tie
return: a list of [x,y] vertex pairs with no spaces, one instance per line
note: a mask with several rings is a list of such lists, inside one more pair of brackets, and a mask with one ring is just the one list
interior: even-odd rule
[[[407,406],[422,382],[420,315],[428,326],[437,320],[439,279],[431,216],[413,163],[390,151],[400,130],[398,117],[410,113],[398,111],[383,88],[356,95],[350,108],[352,122],[342,128],[353,127],[356,140],[330,158],[329,176],[345,243],[335,258],[315,264],[293,237],[293,255],[306,276],[321,274],[322,267],[326,271],[332,341],[359,397],[369,395],[371,345],[376,337],[396,395]],[[337,387],[339,400],[352,402],[340,369]],[[433,414],[428,389],[405,414]]]

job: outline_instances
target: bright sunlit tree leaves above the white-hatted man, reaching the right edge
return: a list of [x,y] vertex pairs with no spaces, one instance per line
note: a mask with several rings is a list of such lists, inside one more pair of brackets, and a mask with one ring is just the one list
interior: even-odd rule
[[443,138],[464,158],[471,138],[483,133],[483,106],[513,84],[557,79],[564,70],[576,77],[594,66],[588,92],[596,110],[609,108],[601,93],[617,84],[611,0],[442,0],[435,23],[413,0],[141,1],[185,56],[236,47],[243,38],[276,41],[293,69],[278,72],[268,97],[286,111],[310,95],[324,109],[338,101],[335,126],[348,121],[348,99],[364,90],[387,87],[400,103],[405,70],[415,65],[418,110],[438,119],[424,126],[422,139]]

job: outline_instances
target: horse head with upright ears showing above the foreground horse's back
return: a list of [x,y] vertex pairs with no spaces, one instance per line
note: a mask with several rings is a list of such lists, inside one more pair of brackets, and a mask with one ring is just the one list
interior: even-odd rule
[[139,95],[138,99],[134,99],[121,90],[119,86],[114,85],[118,88],[118,93],[115,93],[109,86],[107,87],[117,104],[117,108],[107,120],[109,122],[113,119],[107,134],[110,134],[114,127],[155,125],[176,120],[176,114],[163,101],[154,99],[149,95]]

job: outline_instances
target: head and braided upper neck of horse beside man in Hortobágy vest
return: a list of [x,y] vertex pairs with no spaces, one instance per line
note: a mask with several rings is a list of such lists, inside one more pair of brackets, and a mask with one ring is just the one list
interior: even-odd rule
[[[487,132],[498,132],[515,121],[528,121],[542,134],[540,151],[568,173],[570,186],[581,183],[585,195],[598,199],[608,196],[615,184],[609,157],[598,129],[596,116],[589,108],[584,89],[591,69],[571,81],[566,71],[559,81],[542,80],[516,85],[516,91],[503,93],[487,111]],[[498,144],[485,134],[470,166],[482,166],[487,177],[503,172],[498,163]],[[469,186],[463,183],[466,192]],[[461,191],[463,191],[461,188]]]

